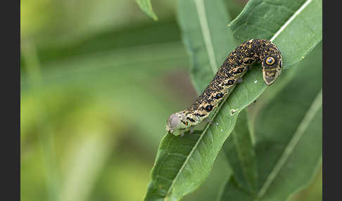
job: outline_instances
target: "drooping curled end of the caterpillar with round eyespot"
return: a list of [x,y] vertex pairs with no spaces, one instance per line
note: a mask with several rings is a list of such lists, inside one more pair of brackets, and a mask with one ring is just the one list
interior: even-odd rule
[[262,77],[265,84],[271,85],[281,73],[281,53],[277,46],[269,44],[262,60]]

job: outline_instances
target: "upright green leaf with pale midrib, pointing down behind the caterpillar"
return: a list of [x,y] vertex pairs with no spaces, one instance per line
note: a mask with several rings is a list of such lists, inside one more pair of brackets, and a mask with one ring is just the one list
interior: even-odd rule
[[229,13],[221,0],[178,1],[179,25],[191,56],[191,80],[202,93],[237,44],[227,25]]

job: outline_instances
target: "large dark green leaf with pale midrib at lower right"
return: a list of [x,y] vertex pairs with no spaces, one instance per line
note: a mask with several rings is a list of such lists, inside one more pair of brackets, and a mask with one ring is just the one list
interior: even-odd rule
[[289,84],[258,112],[256,197],[231,178],[221,200],[286,200],[308,186],[322,163],[322,46],[303,60]]

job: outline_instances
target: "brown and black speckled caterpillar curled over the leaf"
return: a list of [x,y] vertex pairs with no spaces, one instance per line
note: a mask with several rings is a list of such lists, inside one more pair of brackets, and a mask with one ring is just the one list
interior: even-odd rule
[[237,46],[194,103],[186,110],[170,115],[166,124],[167,132],[177,135],[175,131],[183,131],[184,134],[184,131],[201,123],[222,100],[227,99],[253,63],[261,63],[262,77],[265,84],[270,86],[281,73],[279,48],[265,39],[251,39]]

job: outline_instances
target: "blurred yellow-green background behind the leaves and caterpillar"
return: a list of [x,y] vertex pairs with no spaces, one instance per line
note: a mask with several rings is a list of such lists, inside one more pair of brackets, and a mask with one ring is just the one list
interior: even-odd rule
[[[246,4],[227,2],[232,18]],[[20,2],[21,200],[143,199],[167,117],[196,98],[176,2],[152,5],[158,21],[134,0]],[[231,173],[220,153],[184,200],[213,200]],[[321,188],[319,173],[293,200]]]

